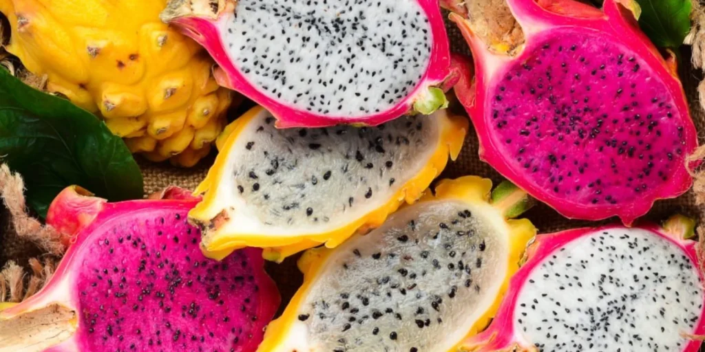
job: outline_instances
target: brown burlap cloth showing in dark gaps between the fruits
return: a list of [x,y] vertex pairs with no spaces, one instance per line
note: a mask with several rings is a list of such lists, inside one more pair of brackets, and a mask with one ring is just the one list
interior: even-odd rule
[[[470,54],[464,39],[462,39],[462,36],[458,30],[456,30],[455,26],[448,25],[447,27],[453,51],[462,54]],[[683,54],[683,64],[680,68],[681,78],[683,80],[687,96],[689,97],[689,104],[695,124],[699,131],[705,131],[705,111],[702,110],[699,102],[697,101],[696,92],[697,84],[701,80],[701,73],[690,68],[687,61],[689,58],[689,51],[687,48],[684,49]],[[237,113],[233,113],[233,118],[235,117],[237,117]],[[704,140],[701,134],[701,144],[703,142]],[[489,177],[494,182],[501,181],[502,177],[496,171],[494,171],[489,165],[479,161],[477,151],[477,135],[471,126],[470,131],[467,133],[465,146],[463,146],[460,157],[457,161],[455,161],[455,163],[448,164],[448,168],[446,168],[441,177],[480,175],[483,177]],[[149,163],[148,161],[138,158],[142,172],[144,172],[145,175],[145,195],[171,184],[187,189],[194,189],[205,177],[209,166],[213,163],[213,158],[214,156],[206,158],[199,165],[190,169],[173,168],[171,165],[168,165],[168,163]],[[702,210],[704,209],[695,206],[694,196],[692,191],[689,191],[687,194],[678,199],[658,201],[645,219],[661,221],[674,213],[682,213],[700,220]],[[525,214],[525,218],[532,220],[532,222],[534,222],[534,224],[539,228],[540,232],[553,232],[572,227],[597,225],[596,222],[565,219],[551,208],[548,208],[548,206],[542,204],[532,208],[532,210],[529,210],[529,212]],[[6,216],[2,217],[1,220],[3,223],[1,224],[0,229],[2,229],[3,232],[0,234],[0,237],[4,237],[4,239],[0,241],[0,264],[4,263],[4,261],[8,259],[16,260],[20,264],[25,264],[27,262],[27,258],[36,256],[39,253],[35,246],[20,241],[16,236],[14,236],[12,229],[8,227]],[[608,221],[609,220],[605,222]],[[300,272],[295,266],[295,260],[297,258],[298,256],[289,258],[281,265],[276,265],[274,263],[269,263],[268,265],[270,274],[278,282],[284,303],[286,303],[296,289],[298,289],[302,279]],[[282,306],[284,306],[284,304]]]

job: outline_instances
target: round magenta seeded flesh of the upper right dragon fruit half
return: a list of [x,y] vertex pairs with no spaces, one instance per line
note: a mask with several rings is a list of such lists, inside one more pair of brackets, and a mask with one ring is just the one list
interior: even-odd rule
[[536,39],[488,96],[488,128],[510,168],[575,204],[630,204],[658,192],[688,152],[687,117],[661,77],[599,34]]

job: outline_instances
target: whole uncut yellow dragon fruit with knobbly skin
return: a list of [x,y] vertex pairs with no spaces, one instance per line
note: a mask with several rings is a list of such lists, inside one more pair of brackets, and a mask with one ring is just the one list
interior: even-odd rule
[[0,0],[6,50],[47,90],[101,115],[133,153],[192,166],[225,125],[233,97],[212,59],[159,20],[166,0]]

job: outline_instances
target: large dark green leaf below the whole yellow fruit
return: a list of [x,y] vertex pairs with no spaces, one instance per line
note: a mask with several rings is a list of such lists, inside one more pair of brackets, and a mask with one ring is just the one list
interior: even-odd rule
[[1,69],[0,161],[23,176],[27,204],[42,218],[72,184],[111,201],[142,198],[142,173],[122,139],[91,113]]

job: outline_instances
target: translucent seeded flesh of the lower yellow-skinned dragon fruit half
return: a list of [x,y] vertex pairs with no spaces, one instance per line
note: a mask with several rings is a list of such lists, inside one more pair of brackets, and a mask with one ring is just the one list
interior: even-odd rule
[[[401,210],[336,249],[297,325],[317,351],[448,351],[494,301],[506,229],[466,203]],[[473,322],[470,322],[472,325]],[[297,329],[297,331],[300,331]]]

